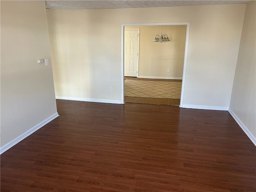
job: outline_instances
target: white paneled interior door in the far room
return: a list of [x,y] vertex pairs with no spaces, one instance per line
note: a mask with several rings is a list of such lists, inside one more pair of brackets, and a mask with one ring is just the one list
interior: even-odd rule
[[124,76],[138,77],[138,29],[124,30]]

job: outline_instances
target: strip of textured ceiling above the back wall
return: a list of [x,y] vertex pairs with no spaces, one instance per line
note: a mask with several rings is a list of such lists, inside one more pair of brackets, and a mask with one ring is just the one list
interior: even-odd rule
[[48,9],[110,9],[241,4],[250,0],[46,0]]

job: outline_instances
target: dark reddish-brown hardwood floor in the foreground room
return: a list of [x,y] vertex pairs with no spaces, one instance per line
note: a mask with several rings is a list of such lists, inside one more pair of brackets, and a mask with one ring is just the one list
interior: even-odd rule
[[1,155],[1,192],[255,192],[256,147],[227,111],[57,100]]

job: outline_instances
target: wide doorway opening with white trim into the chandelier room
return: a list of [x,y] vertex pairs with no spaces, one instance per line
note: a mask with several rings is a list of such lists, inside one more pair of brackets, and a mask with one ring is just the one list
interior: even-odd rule
[[[161,26],[163,34],[168,34],[170,42],[153,42],[155,35],[161,32],[159,31]],[[176,31],[174,28],[176,28]],[[180,29],[183,31],[177,31]],[[138,55],[136,55],[136,39],[126,39],[127,36],[136,37],[134,32],[138,32],[138,40],[141,40],[141,44],[138,45],[138,51],[140,51]],[[179,33],[182,36],[178,36]],[[122,24],[122,103],[129,102],[127,99],[136,98],[139,103],[164,104],[168,101],[166,104],[179,104],[182,107],[188,34],[189,22]],[[183,48],[180,48],[180,46],[183,46]],[[132,52],[135,59],[130,59],[129,52]],[[136,59],[139,59],[139,57],[140,61],[137,60],[139,61],[137,63]],[[129,75],[127,70],[135,71],[136,74],[130,73],[131,75]],[[170,90],[173,92],[170,93]],[[135,96],[133,98],[126,97],[133,96],[133,94]],[[124,100],[124,97],[127,101]],[[146,99],[148,102],[145,102]],[[155,102],[156,100],[158,102]],[[179,102],[176,100],[179,100]],[[169,103],[169,101],[172,103]]]

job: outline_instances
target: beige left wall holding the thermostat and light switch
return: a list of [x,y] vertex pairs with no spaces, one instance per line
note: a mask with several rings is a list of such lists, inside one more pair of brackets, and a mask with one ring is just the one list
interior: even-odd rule
[[56,114],[44,1],[1,1],[1,147]]

